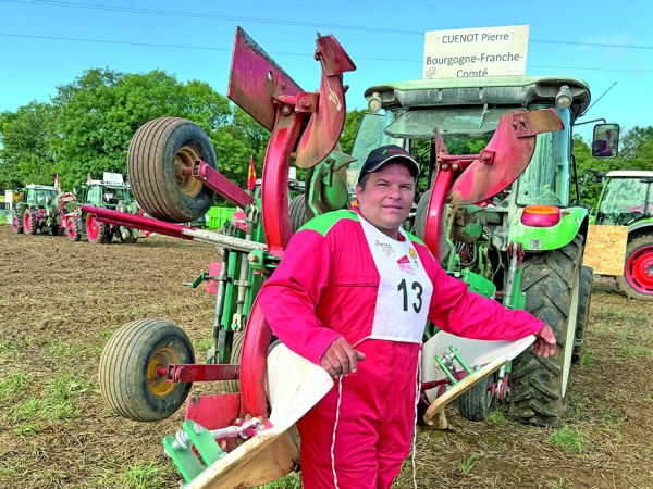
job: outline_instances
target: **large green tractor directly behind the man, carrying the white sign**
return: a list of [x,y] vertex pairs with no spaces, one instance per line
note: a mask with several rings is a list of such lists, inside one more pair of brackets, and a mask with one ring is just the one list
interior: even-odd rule
[[465,159],[493,164],[495,154],[485,147],[503,114],[513,113],[518,133],[529,130],[531,122],[519,115],[526,111],[552,109],[559,116],[564,128],[537,136],[530,161],[522,162],[522,173],[512,185],[510,179],[480,202],[467,199],[473,204],[446,205],[441,238],[429,246],[448,274],[507,308],[529,311],[555,330],[558,342],[553,358],[527,351],[475,386],[459,399],[460,414],[484,419],[494,399],[509,391],[512,417],[558,426],[570,367],[580,362],[584,348],[592,287],[592,269],[582,266],[588,210],[570,199],[571,185],[578,190],[572,126],[590,103],[588,85],[527,76],[424,79],[377,85],[366,91],[366,99],[369,113],[355,140],[357,162],[348,166],[348,186],[354,187],[373,148],[395,143],[409,150],[422,165],[421,196],[405,227],[419,238],[433,236],[424,233],[430,188],[438,172],[451,170],[454,156],[447,150],[464,155],[455,156],[456,164]]

